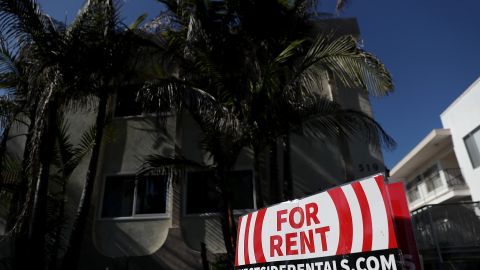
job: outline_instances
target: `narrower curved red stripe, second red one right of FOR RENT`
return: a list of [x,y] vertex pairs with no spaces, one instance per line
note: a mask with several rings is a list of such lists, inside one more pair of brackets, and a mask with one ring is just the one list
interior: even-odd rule
[[367,196],[363,191],[362,185],[359,182],[352,183],[353,191],[357,195],[358,204],[362,212],[363,221],[363,244],[362,251],[372,250],[372,214],[370,213],[370,206],[368,204]]

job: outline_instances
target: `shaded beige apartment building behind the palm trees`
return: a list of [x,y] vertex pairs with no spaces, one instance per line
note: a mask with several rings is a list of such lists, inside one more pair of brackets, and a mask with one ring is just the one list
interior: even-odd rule
[[[359,37],[355,19],[330,20],[319,27]],[[322,88],[322,94],[343,108],[372,115],[365,90],[347,89],[333,77]],[[80,269],[201,269],[202,247],[211,260],[215,254],[225,253],[219,198],[211,172],[188,169],[174,175],[136,177],[142,159],[150,154],[181,155],[209,164],[208,154],[200,147],[201,130],[187,113],[168,115],[165,128],[159,129],[156,116],[142,113],[133,100],[119,93],[112,102],[109,129],[113,136],[102,144]],[[89,113],[75,112],[68,118],[73,142],[78,142],[82,132],[94,122],[94,115]],[[294,197],[384,171],[377,146],[350,141],[348,146],[339,147],[342,143],[291,134]],[[10,148],[23,149],[24,139],[12,139],[9,144]],[[76,168],[68,182],[69,222],[73,221],[81,196],[87,160]],[[260,184],[268,197],[272,186],[266,169],[268,159],[265,160],[266,181]],[[281,158],[278,160],[282,167]],[[257,208],[253,176],[253,153],[244,149],[228,175],[235,190],[232,202],[236,216]],[[68,230],[66,226],[66,234]]]

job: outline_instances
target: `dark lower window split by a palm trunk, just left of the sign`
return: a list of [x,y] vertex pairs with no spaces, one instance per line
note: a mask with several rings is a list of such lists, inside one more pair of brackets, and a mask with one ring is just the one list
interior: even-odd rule
[[[250,170],[227,174],[235,210],[254,209],[253,174]],[[219,211],[220,190],[212,171],[190,172],[187,176],[186,214],[216,213]]]

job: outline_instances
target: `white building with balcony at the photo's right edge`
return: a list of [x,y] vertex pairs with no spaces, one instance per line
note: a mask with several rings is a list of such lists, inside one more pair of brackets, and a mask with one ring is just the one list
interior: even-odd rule
[[480,78],[390,172],[405,181],[410,210],[427,204],[480,200]]

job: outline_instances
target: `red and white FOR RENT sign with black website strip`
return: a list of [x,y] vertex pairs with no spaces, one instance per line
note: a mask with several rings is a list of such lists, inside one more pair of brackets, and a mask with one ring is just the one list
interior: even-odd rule
[[382,175],[239,219],[236,269],[402,269]]

